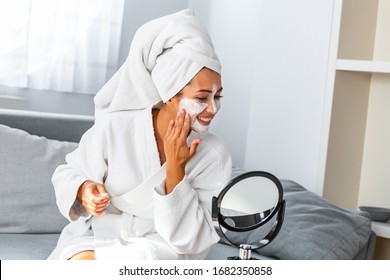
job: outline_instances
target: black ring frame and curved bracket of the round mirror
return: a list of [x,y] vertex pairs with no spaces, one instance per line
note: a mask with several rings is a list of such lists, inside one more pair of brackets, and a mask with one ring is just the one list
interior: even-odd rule
[[[220,213],[220,207],[221,207],[221,202],[222,202],[223,197],[238,182],[240,182],[246,178],[249,178],[249,177],[258,177],[258,176],[268,178],[278,188],[279,197],[278,197],[277,205],[272,209],[272,212],[268,216],[266,216],[263,220],[261,220],[260,223],[257,223],[253,226],[244,227],[244,228],[235,228],[235,227],[228,225],[227,223],[225,223],[225,221],[223,219],[223,215]],[[218,235],[221,237],[221,239],[225,243],[231,244],[231,245],[237,247],[238,246],[237,244],[235,244],[234,242],[230,241],[227,238],[227,236],[224,234],[221,227],[223,227],[227,230],[234,231],[234,232],[250,231],[250,230],[257,229],[260,226],[262,226],[263,224],[267,223],[277,214],[277,218],[274,222],[274,225],[272,226],[272,229],[269,231],[269,233],[262,240],[260,240],[258,243],[252,244],[252,249],[258,249],[258,248],[264,247],[265,245],[269,244],[276,237],[276,235],[279,233],[280,228],[283,224],[283,219],[284,219],[284,214],[285,214],[285,205],[286,205],[286,201],[283,199],[283,187],[282,187],[282,184],[278,178],[276,178],[271,173],[268,173],[265,171],[250,171],[250,172],[240,174],[237,177],[233,178],[227,184],[227,186],[220,192],[218,197],[215,197],[215,196],[213,197],[211,216],[212,216],[214,228],[217,231]]]

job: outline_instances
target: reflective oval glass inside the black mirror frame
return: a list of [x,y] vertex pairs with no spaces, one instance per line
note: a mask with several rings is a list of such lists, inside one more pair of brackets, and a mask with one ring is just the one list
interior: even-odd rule
[[220,214],[224,222],[236,229],[260,224],[279,201],[277,185],[267,177],[253,176],[235,183],[223,196]]

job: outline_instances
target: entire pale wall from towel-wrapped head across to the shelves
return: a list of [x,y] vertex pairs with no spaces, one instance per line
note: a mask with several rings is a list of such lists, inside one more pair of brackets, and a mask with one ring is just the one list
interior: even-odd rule
[[[194,4],[194,3],[196,4]],[[213,130],[237,166],[322,193],[321,143],[333,1],[189,1],[223,66]]]

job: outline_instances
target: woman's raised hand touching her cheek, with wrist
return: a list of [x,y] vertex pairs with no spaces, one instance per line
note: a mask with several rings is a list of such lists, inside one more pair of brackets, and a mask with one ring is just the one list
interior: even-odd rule
[[194,139],[187,146],[187,137],[191,129],[190,116],[185,110],[179,111],[176,119],[169,123],[164,138],[164,152],[166,158],[167,178],[166,193],[173,191],[175,186],[183,180],[186,163],[195,155],[200,139]]

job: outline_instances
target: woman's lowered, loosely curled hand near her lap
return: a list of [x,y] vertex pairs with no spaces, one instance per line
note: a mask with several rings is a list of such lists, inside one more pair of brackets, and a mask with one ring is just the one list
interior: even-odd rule
[[84,208],[94,216],[104,215],[104,209],[110,204],[110,195],[102,184],[85,181],[77,192],[77,199]]

